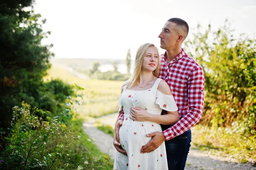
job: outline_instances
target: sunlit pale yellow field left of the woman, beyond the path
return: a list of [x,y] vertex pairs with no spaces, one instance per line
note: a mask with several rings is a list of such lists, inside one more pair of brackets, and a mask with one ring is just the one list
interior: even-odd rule
[[[57,65],[57,66],[56,66]],[[63,64],[52,64],[48,70],[45,80],[60,78],[68,84],[75,83],[84,88],[81,92],[83,100],[79,101],[80,106],[76,109],[82,118],[99,117],[109,113],[117,112],[117,102],[121,92],[122,81],[85,80],[78,78],[73,73],[64,68]]]

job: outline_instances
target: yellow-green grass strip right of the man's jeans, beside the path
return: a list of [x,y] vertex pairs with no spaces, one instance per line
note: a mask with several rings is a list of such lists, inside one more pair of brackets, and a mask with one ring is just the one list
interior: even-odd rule
[[210,151],[216,156],[232,157],[243,163],[256,159],[256,135],[232,133],[227,128],[219,127],[215,130],[196,125],[192,128],[192,146]]

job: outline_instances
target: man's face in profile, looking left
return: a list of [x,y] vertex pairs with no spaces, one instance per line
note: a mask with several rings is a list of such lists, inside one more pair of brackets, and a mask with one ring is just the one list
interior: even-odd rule
[[178,39],[177,35],[177,27],[175,23],[167,21],[164,26],[163,30],[158,36],[160,38],[160,47],[162,49],[173,49],[175,48],[176,41]]

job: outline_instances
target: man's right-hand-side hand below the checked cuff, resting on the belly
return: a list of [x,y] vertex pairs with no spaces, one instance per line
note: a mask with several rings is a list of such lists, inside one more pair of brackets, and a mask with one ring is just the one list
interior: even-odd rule
[[153,132],[147,134],[147,137],[152,138],[144,147],[141,148],[140,153],[151,153],[166,140],[162,132]]

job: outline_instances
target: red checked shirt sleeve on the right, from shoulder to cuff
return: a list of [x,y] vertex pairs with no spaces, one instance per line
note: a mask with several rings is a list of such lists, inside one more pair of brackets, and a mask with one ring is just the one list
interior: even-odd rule
[[201,120],[204,108],[204,72],[201,66],[195,68],[188,80],[189,112],[176,124],[163,131],[166,141],[181,135]]

